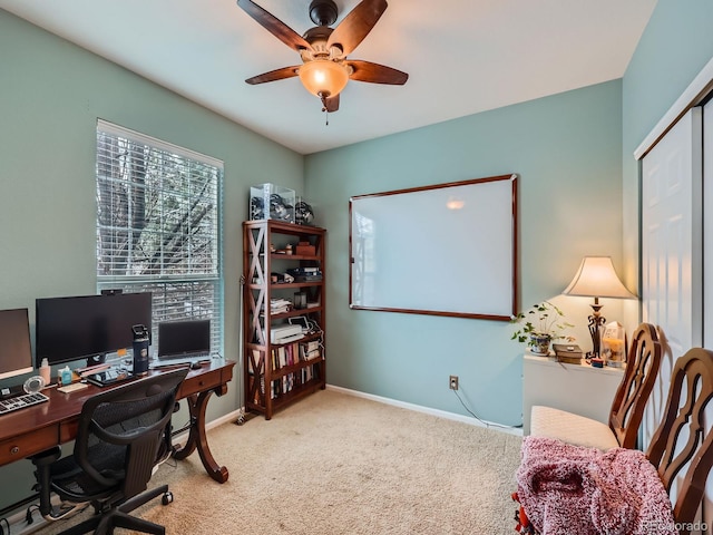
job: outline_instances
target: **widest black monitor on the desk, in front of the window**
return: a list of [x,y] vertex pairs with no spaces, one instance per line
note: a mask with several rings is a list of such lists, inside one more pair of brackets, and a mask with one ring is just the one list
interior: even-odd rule
[[130,348],[131,327],[152,324],[150,293],[38,299],[36,309],[38,367]]

